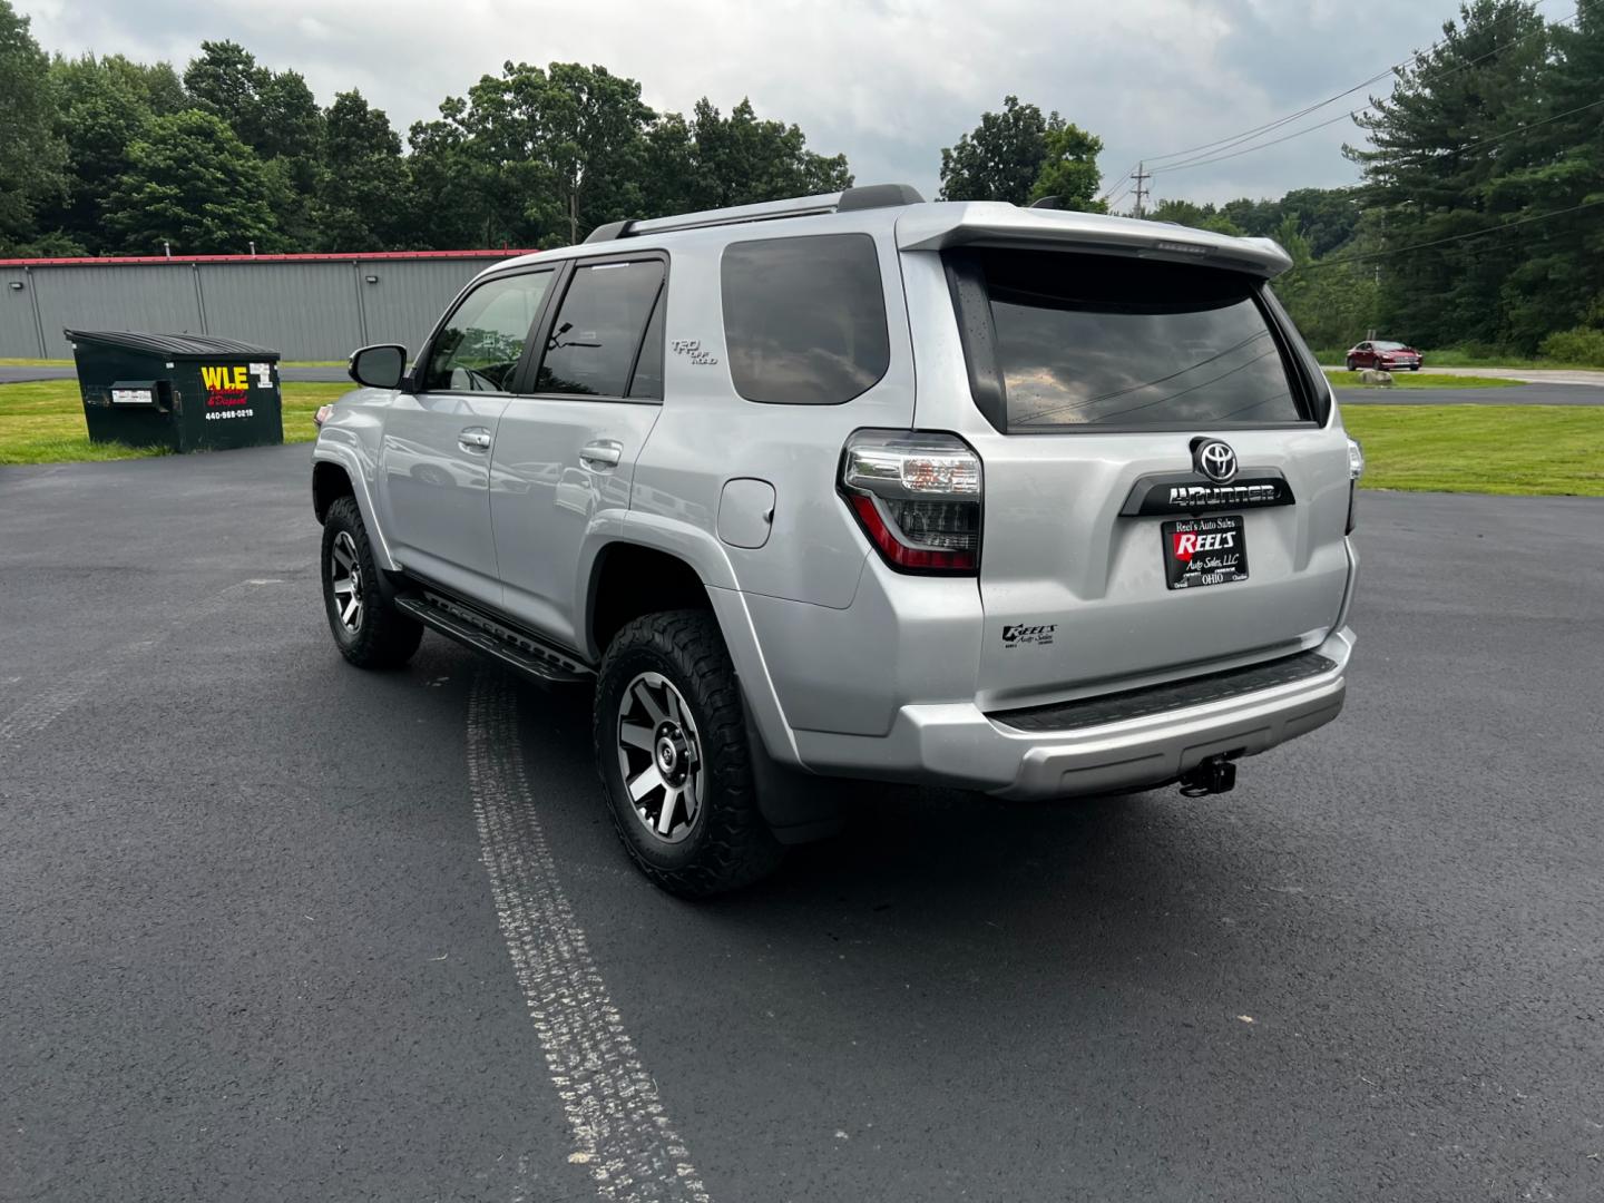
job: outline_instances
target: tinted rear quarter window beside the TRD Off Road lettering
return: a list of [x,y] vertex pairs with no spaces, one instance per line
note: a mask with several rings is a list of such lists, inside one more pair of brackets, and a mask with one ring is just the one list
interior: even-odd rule
[[747,401],[839,406],[890,366],[874,239],[820,234],[723,252],[723,335]]

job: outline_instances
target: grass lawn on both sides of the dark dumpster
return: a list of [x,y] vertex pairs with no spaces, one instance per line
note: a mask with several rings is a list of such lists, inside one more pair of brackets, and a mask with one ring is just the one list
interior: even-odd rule
[[[318,428],[311,415],[324,401],[348,393],[351,385],[287,383],[284,391],[284,441],[306,443]],[[35,380],[0,385],[0,464],[64,464],[69,460],[138,459],[160,451],[90,443],[83,428],[83,401],[77,380]]]

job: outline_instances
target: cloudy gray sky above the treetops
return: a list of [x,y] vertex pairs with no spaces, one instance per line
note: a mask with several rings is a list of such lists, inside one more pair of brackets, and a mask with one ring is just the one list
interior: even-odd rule
[[[646,103],[797,122],[858,183],[934,196],[942,148],[1007,93],[1104,138],[1105,186],[1156,159],[1296,112],[1431,43],[1455,0],[13,0],[47,50],[183,69],[202,38],[300,71],[318,99],[359,88],[403,132],[505,59],[597,63]],[[1553,16],[1569,14],[1556,2]],[[1566,11],[1561,13],[1559,10]],[[1285,127],[1363,104],[1365,91]],[[1156,197],[1224,200],[1354,180],[1339,120],[1161,173]],[[1179,159],[1176,159],[1179,162]]]

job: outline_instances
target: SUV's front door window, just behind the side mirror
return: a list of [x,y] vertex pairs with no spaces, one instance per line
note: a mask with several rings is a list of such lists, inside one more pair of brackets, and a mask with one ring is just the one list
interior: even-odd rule
[[462,298],[428,351],[423,388],[505,393],[555,273],[531,271],[484,281]]

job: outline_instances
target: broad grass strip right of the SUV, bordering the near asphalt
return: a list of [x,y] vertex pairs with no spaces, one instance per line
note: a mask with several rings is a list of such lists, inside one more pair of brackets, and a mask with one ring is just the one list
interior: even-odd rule
[[1351,406],[1365,488],[1604,497],[1604,406]]

